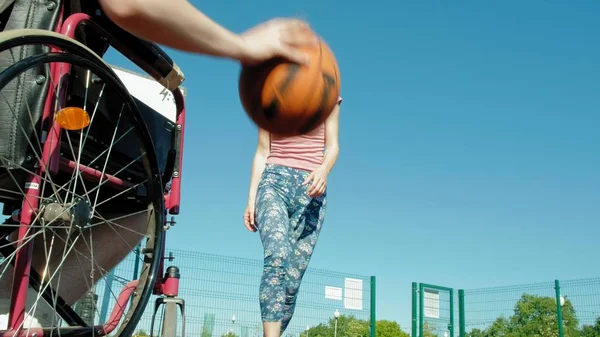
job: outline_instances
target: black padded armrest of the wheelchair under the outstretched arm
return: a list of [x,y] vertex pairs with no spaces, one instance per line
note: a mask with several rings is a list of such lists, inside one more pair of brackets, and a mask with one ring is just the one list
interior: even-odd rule
[[158,45],[123,30],[105,16],[95,16],[93,24],[85,22],[108,39],[109,44],[170,91],[177,89],[185,76]]

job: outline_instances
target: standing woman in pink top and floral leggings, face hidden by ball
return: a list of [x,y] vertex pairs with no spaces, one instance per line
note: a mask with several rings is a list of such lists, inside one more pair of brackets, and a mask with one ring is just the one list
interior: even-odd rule
[[341,102],[307,134],[258,131],[244,222],[258,230],[264,248],[259,297],[265,337],[280,337],[287,328],[323,225],[327,176],[339,154]]

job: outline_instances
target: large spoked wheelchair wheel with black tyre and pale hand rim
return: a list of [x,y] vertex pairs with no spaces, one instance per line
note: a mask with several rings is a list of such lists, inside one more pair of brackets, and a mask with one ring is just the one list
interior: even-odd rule
[[0,33],[0,71],[0,315],[11,315],[0,330],[130,336],[164,244],[163,172],[142,115],[106,63],[56,33]]

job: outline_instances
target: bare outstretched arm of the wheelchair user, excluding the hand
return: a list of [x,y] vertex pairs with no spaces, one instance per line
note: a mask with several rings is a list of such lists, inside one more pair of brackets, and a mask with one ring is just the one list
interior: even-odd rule
[[187,0],[99,0],[121,28],[171,48],[241,60],[244,40],[220,26]]

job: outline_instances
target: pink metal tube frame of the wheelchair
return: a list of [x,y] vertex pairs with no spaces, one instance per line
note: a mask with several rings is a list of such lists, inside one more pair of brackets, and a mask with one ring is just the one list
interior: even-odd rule
[[[132,61],[134,61],[138,66],[142,67],[144,70],[152,70],[151,67],[153,65],[143,64],[140,61],[140,57],[137,57],[134,50],[129,50],[128,46],[119,43],[118,36],[111,36],[109,32],[103,29],[101,25],[94,22],[94,20],[87,14],[84,13],[75,13],[70,15],[67,18],[59,19],[59,22],[56,26],[55,31],[59,32],[69,38],[75,38],[75,28],[79,25],[88,25],[93,27],[96,31],[101,32],[103,37],[109,41],[116,50],[129,57]],[[154,46],[155,48],[158,48]],[[54,50],[58,51],[58,50]],[[53,120],[53,94],[52,92],[56,92],[58,83],[60,83],[60,79],[64,76],[68,76],[70,73],[70,67],[58,67],[56,64],[52,64],[50,68],[52,77],[55,80],[51,85],[53,86],[50,90],[48,96],[46,97],[46,102],[44,106],[44,111],[42,115],[43,121],[52,121]],[[156,78],[156,76],[154,76]],[[158,78],[157,78],[158,80]],[[62,89],[64,90],[64,88]],[[171,215],[179,214],[180,209],[180,199],[181,199],[181,168],[182,168],[182,160],[183,160],[183,139],[184,139],[184,129],[185,129],[185,104],[184,104],[184,95],[180,88],[176,88],[172,90],[172,93],[175,98],[176,107],[177,107],[177,117],[176,117],[176,132],[179,132],[179,137],[176,137],[176,141],[173,144],[174,150],[177,153],[176,160],[174,162],[174,168],[172,173],[172,179],[170,181],[171,188],[169,192],[166,192],[164,195],[165,209]],[[63,97],[64,104],[64,92],[59,93],[58,95]],[[104,174],[102,176],[102,172],[83,165],[79,165],[76,167],[76,163],[73,161],[69,161],[67,159],[61,158],[60,156],[60,126],[58,122],[52,121],[51,131],[48,133],[47,139],[43,144],[43,152],[42,152],[42,163],[40,163],[40,168],[37,170],[36,175],[30,175],[28,178],[28,184],[26,186],[37,186],[41,183],[44,173],[49,172],[50,174],[56,174],[59,171],[72,173],[74,170],[79,170],[81,175],[88,178],[96,178],[100,179],[102,177],[103,180],[107,180],[107,184],[112,185],[117,188],[127,188],[131,184],[127,181],[119,179],[117,177],[111,176],[109,174]],[[176,143],[176,144],[175,144]],[[163,182],[166,184],[167,182]],[[18,238],[22,240],[27,235],[28,229],[35,218],[36,208],[39,207],[39,197],[40,191],[39,189],[34,188],[26,188],[25,189],[26,196],[25,200],[22,203],[22,209],[20,212],[20,227],[18,231]],[[168,223],[165,219],[165,223]],[[163,233],[165,235],[165,233]],[[158,254],[158,258],[161,259],[159,272],[156,274],[156,281],[153,289],[153,293],[155,295],[166,295],[167,297],[176,297],[178,293],[178,276],[174,278],[172,276],[162,277],[164,274],[164,242],[163,240],[163,250],[160,254]],[[107,320],[107,322],[103,326],[92,326],[92,327],[68,327],[68,328],[29,328],[24,329],[21,328],[19,331],[19,327],[22,326],[23,320],[25,318],[25,305],[26,305],[26,297],[27,297],[27,289],[30,285],[30,271],[31,271],[31,260],[32,260],[32,252],[33,252],[33,243],[29,242],[24,244],[19,251],[16,253],[15,264],[14,264],[14,280],[13,280],[13,291],[11,294],[11,305],[10,305],[10,314],[9,314],[9,324],[8,330],[2,334],[2,337],[13,337],[13,336],[35,336],[35,337],[47,337],[49,335],[59,334],[60,336],[103,336],[108,335],[115,330],[118,323],[120,322],[122,316],[125,313],[125,308],[127,301],[130,299],[133,290],[137,285],[137,280],[134,280],[127,284],[121,291],[118,296],[118,300],[116,305],[113,308],[113,311]],[[60,331],[57,331],[60,330]]]

